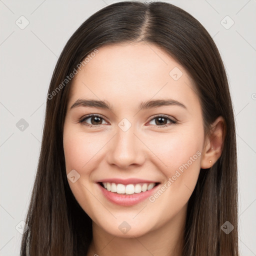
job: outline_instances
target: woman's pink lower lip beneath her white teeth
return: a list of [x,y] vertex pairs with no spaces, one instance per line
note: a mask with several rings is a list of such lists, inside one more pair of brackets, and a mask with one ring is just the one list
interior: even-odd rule
[[99,188],[101,189],[103,195],[110,201],[118,205],[123,205],[123,206],[130,206],[137,204],[146,198],[148,198],[158,187],[158,185],[154,186],[150,190],[146,190],[145,192],[140,192],[140,193],[134,193],[130,195],[125,195],[125,194],[117,194],[113,193],[111,191],[108,191],[107,189],[103,188],[99,183],[97,183]]

